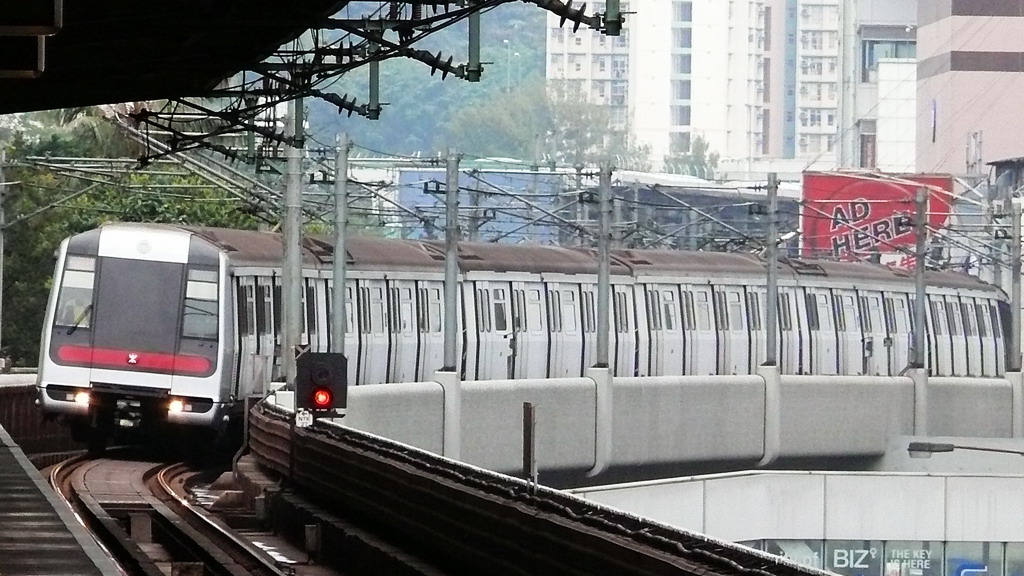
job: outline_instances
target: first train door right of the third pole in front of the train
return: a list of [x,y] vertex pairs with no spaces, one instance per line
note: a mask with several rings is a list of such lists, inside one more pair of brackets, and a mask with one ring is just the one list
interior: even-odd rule
[[476,312],[479,337],[477,379],[513,378],[512,322],[509,311],[511,284],[476,283]]

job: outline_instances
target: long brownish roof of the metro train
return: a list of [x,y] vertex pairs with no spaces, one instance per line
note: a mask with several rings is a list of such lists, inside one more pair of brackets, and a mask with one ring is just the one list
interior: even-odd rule
[[[116,224],[106,224],[116,225]],[[139,224],[132,224],[139,225]],[[280,268],[284,257],[280,233],[220,228],[171,227],[196,234],[228,254],[236,266]],[[345,240],[348,263],[357,270],[403,270],[439,272],[444,266],[444,243],[438,241],[394,240],[350,236]],[[611,274],[635,277],[715,276],[764,278],[765,260],[751,253],[688,252],[681,250],[612,250]],[[306,266],[329,268],[333,261],[331,239],[306,236],[302,243]],[[822,280],[912,283],[912,274],[867,262],[836,262],[783,258],[779,278],[820,278]],[[496,244],[460,242],[459,266],[463,272],[523,272],[556,274],[597,274],[597,252],[589,248],[568,248],[537,244]],[[1000,292],[981,280],[955,273],[930,272],[933,287]]]

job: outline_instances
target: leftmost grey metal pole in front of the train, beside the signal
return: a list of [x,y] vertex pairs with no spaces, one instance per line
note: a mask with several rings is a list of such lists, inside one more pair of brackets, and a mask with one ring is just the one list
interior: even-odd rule
[[285,381],[295,386],[295,347],[300,343],[302,318],[302,98],[288,102],[288,132],[293,138],[286,147],[288,180],[285,189],[285,262],[282,270],[281,356]]

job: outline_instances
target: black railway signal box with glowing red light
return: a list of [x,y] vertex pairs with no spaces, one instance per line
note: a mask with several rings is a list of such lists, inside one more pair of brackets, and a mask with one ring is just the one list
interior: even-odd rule
[[296,359],[295,408],[344,412],[348,361],[339,353],[307,352]]

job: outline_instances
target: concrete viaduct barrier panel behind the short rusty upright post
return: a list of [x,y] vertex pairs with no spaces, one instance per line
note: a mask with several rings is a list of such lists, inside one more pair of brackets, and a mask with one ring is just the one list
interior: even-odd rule
[[540,469],[594,466],[596,385],[590,378],[463,382],[460,459],[490,470],[521,474],[524,402],[536,408]]

